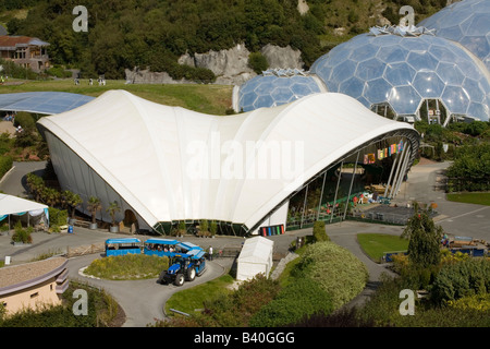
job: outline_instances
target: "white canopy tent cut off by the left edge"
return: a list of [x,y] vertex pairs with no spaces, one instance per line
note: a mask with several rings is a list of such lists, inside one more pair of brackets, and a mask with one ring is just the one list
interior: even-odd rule
[[26,215],[27,225],[29,225],[30,218],[35,218],[35,220],[44,218],[45,224],[49,225],[49,212],[47,205],[12,195],[0,194],[0,222],[8,218],[9,229],[11,215]]

